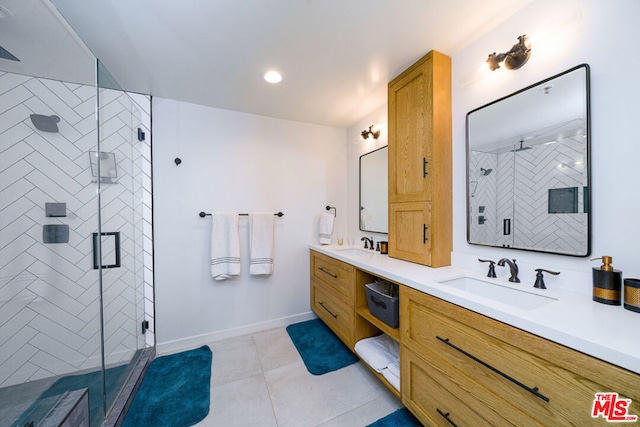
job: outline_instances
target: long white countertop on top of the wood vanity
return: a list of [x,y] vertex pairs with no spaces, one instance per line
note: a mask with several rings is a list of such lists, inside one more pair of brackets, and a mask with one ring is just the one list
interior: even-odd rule
[[[622,306],[600,304],[585,295],[489,279],[458,267],[426,267],[376,251],[315,244],[310,249],[640,374],[640,313]],[[458,277],[490,281],[556,300],[542,307],[521,309],[439,283]]]

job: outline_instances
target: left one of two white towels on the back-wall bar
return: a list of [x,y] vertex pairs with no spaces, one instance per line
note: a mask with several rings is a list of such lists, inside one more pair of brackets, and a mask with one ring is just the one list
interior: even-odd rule
[[237,213],[211,214],[211,277],[226,280],[240,275]]

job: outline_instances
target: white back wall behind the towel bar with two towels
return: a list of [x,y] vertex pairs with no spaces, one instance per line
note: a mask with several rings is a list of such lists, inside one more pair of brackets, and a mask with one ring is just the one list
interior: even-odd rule
[[[153,102],[159,351],[310,318],[308,245],[318,241],[327,204],[338,209],[336,227],[346,229],[346,131]],[[214,281],[211,218],[200,211],[282,211],[274,274],[249,276],[248,220],[241,217],[242,274]]]

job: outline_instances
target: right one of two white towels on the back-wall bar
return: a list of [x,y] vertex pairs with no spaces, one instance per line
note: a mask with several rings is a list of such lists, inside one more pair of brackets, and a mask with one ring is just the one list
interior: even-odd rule
[[251,259],[249,274],[273,274],[273,212],[251,214]]

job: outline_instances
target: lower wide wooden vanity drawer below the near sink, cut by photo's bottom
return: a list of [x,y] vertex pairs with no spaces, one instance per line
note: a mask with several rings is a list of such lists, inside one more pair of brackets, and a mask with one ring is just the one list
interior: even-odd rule
[[[434,425],[539,425],[457,369],[401,347],[402,403]],[[476,399],[474,396],[480,396]]]

